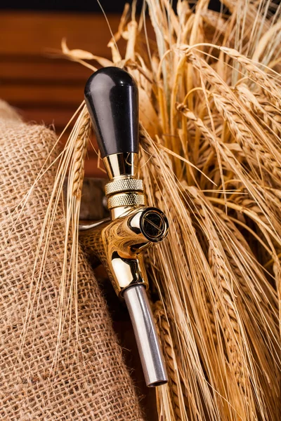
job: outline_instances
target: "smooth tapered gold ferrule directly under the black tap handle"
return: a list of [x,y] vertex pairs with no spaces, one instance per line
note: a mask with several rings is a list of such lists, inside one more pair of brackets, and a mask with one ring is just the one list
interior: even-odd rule
[[110,180],[136,178],[137,176],[138,154],[133,152],[105,156],[103,163]]

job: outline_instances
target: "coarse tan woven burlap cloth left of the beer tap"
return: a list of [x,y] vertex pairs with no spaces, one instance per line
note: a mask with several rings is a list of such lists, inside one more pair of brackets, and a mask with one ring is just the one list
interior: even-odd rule
[[[55,215],[41,285],[36,283],[38,273],[32,281],[32,272],[55,168],[40,178],[25,206],[20,201],[54,142],[48,128],[23,123],[0,102],[0,419],[143,420],[105,300],[82,253],[78,345],[72,314],[67,316],[58,363],[53,366],[63,269],[62,206]],[[34,309],[19,354],[30,300]]]

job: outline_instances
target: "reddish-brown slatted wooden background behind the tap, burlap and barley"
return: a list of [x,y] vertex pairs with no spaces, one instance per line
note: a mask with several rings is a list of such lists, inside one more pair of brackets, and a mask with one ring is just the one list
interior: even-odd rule
[[[115,32],[120,16],[107,18]],[[91,75],[90,69],[75,62],[50,57],[51,50],[60,49],[63,37],[70,49],[80,48],[111,58],[107,48],[110,30],[102,14],[0,12],[0,98],[16,107],[26,121],[45,123],[58,135],[84,99],[84,85]],[[86,177],[106,177],[97,168],[94,150],[89,152],[85,167]],[[98,269],[96,277],[124,347],[126,363],[142,396],[145,419],[157,420],[155,392],[145,387],[128,313],[105,276]]]

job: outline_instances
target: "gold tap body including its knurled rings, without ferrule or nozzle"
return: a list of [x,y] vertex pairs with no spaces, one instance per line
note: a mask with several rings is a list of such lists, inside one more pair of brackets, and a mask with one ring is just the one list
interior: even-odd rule
[[143,251],[164,239],[168,222],[161,210],[143,206],[143,183],[132,174],[113,177],[105,192],[111,218],[81,226],[80,237],[87,253],[107,269],[117,295],[122,295],[135,283],[148,286]]

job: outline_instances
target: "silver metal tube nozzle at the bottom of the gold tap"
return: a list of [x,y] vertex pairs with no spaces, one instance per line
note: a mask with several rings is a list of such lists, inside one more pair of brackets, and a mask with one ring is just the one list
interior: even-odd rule
[[145,287],[136,285],[126,288],[123,297],[136,336],[146,385],[164,385],[168,377]]

